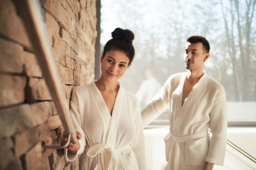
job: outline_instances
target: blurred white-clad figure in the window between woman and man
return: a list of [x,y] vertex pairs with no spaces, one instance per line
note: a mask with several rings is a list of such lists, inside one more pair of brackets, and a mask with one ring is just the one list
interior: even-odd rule
[[145,77],[146,80],[141,83],[139,90],[135,94],[140,101],[141,108],[148,105],[151,99],[153,99],[153,97],[157,94],[158,91],[160,91],[162,87],[154,77],[151,69],[147,68],[145,70]]

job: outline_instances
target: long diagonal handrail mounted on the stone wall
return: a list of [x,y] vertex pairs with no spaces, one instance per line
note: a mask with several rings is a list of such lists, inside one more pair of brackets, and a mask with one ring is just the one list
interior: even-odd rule
[[[15,3],[17,5],[17,12],[23,20],[29,40],[41,66],[64,130],[67,136],[71,135],[71,141],[73,143],[79,144],[79,140],[76,138],[75,126],[71,119],[66,97],[61,86],[58,70],[51,52],[47,28],[43,22],[44,18],[41,6],[38,0],[15,0]],[[59,148],[59,146],[55,148]]]

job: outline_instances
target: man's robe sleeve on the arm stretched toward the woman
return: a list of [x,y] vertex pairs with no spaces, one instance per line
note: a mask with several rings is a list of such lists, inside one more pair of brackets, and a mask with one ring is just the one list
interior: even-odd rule
[[141,119],[143,128],[152,122],[158,115],[165,111],[169,106],[169,86],[171,82],[171,77],[167,79],[161,90],[154,96],[151,102],[143,108],[141,111]]

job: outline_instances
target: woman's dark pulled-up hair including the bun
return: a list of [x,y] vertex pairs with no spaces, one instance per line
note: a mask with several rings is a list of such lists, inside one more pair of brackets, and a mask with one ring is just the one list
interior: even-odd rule
[[129,67],[135,55],[134,46],[132,45],[132,40],[134,40],[134,33],[128,29],[116,28],[111,33],[111,36],[112,39],[108,40],[103,48],[102,57],[104,58],[108,51],[122,51],[127,55],[130,60],[128,63]]

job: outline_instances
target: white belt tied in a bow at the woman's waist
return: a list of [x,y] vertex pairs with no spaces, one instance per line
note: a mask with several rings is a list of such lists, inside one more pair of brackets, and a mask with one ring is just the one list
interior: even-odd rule
[[[115,166],[117,167],[118,170],[125,170],[125,166],[122,162],[122,159],[119,156],[119,153],[117,153],[116,151],[131,149],[131,147],[132,147],[132,144],[127,144],[124,147],[119,147],[119,148],[115,149],[110,144],[100,143],[100,144],[96,144],[92,147],[85,147],[84,151],[87,152],[86,155],[90,158],[94,158],[98,153],[111,153],[110,158],[105,157],[105,161],[102,160],[105,162],[105,165],[103,165],[105,167],[105,168],[103,167],[104,170],[109,170],[109,166],[110,166],[111,162],[115,164]],[[90,160],[90,166],[91,166],[91,164],[92,164],[92,159]],[[87,168],[88,168],[88,164],[85,165],[85,167],[83,167],[82,169],[87,170]],[[97,164],[95,169],[101,169],[100,165]]]

